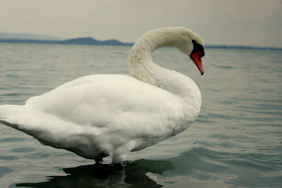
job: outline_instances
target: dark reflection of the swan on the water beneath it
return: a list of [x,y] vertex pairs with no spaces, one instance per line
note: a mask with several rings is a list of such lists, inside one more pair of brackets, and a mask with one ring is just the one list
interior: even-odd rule
[[150,179],[147,173],[161,175],[173,170],[168,161],[149,161],[140,159],[124,163],[125,168],[117,173],[108,164],[81,165],[75,168],[63,168],[66,176],[48,176],[46,182],[19,183],[16,187],[162,187]]

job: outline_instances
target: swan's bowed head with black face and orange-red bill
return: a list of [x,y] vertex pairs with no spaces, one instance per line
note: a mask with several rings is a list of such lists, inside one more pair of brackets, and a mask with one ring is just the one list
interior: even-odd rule
[[176,46],[184,54],[190,56],[201,75],[204,74],[204,67],[202,65],[202,57],[204,56],[204,42],[197,33],[188,30],[184,27],[178,27],[180,37],[177,37]]

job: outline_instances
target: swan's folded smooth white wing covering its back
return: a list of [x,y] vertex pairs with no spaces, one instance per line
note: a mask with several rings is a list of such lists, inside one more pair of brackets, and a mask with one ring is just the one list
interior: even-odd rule
[[126,126],[130,119],[137,125],[146,123],[152,121],[150,115],[161,117],[178,109],[178,104],[177,96],[127,75],[80,77],[26,102],[41,113],[92,127]]

